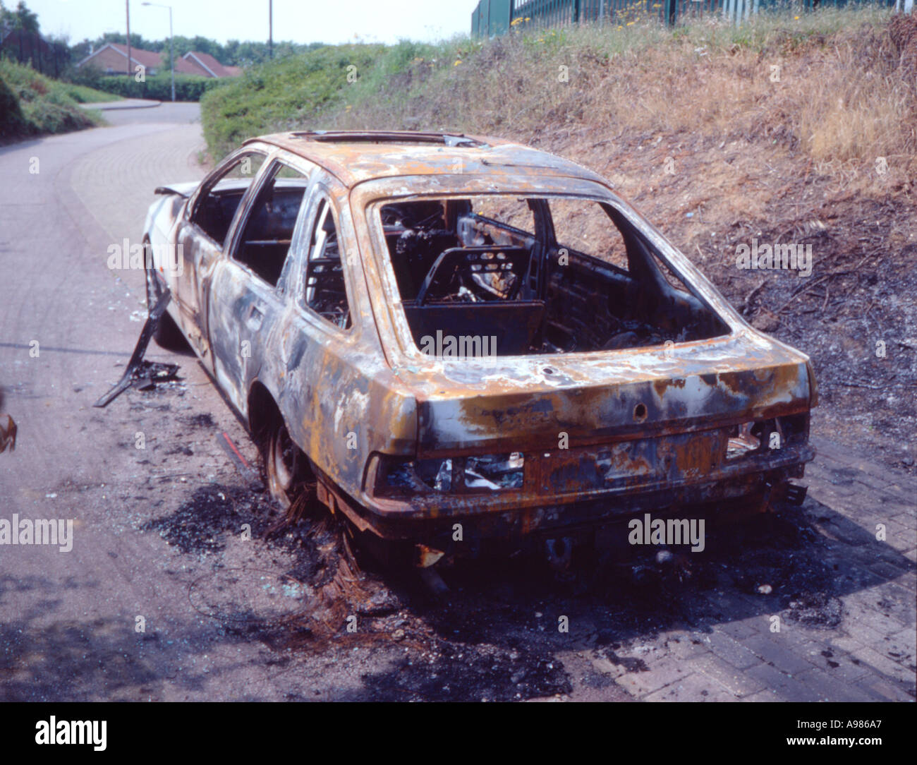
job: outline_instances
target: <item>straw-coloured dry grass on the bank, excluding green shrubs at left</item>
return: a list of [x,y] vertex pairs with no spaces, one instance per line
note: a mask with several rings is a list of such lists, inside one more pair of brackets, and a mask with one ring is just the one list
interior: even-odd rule
[[469,43],[458,63],[416,61],[381,94],[358,91],[322,122],[536,144],[580,131],[624,143],[689,134],[755,142],[884,194],[917,170],[914,78],[888,21],[874,10],[829,10],[738,29],[704,21],[674,34],[655,24],[514,34]]

